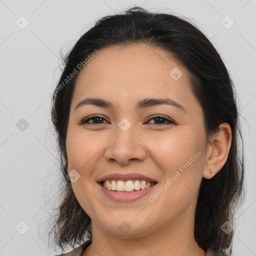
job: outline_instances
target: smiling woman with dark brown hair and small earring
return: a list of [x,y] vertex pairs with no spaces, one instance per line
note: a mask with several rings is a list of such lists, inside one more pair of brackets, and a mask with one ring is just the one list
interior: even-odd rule
[[[243,194],[235,91],[194,25],[133,7],[64,59],[51,117],[61,255],[230,255]],[[133,254],[132,254],[133,253]]]

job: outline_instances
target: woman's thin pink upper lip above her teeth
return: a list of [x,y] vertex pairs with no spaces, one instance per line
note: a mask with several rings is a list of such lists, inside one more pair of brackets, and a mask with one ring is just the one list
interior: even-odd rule
[[131,179],[140,179],[140,180],[158,182],[154,178],[150,178],[150,177],[140,174],[140,173],[125,173],[125,174],[111,173],[111,174],[105,175],[103,177],[100,177],[99,179],[97,179],[97,182],[102,182],[106,179],[115,179],[115,180],[123,180],[123,181],[131,180]]

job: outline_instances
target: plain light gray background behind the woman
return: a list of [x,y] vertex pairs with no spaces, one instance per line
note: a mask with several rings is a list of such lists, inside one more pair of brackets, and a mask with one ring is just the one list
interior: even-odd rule
[[[60,177],[47,94],[60,75],[59,50],[65,53],[99,17],[133,5],[190,18],[232,76],[243,116],[247,187],[233,255],[256,255],[255,0],[0,0],[0,255],[56,254],[46,232]],[[25,24],[21,15],[29,21],[24,29],[15,23]],[[234,21],[228,29],[226,15]],[[16,126],[21,118],[28,127]],[[20,221],[29,226],[24,234],[17,231],[25,230]]]

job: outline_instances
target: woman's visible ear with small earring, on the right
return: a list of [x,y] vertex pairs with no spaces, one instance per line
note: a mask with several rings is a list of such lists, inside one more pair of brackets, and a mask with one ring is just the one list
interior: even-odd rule
[[231,127],[223,122],[219,126],[219,131],[210,138],[207,145],[205,165],[203,169],[204,178],[212,178],[210,170],[216,174],[225,164],[231,145]]

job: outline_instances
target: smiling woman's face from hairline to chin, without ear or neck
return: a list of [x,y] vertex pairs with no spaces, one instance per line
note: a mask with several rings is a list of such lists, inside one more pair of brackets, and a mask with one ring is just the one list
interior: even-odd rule
[[[80,103],[85,98],[103,99],[111,107]],[[138,237],[191,220],[205,141],[203,113],[188,73],[165,51],[145,44],[111,46],[99,50],[79,72],[66,150],[68,172],[75,173],[72,188],[92,220],[92,229],[122,236],[121,227],[127,225],[126,236]],[[109,183],[113,179],[124,184],[129,179],[157,183],[132,192],[111,192],[97,182],[114,173],[147,178],[111,177]],[[125,200],[124,193],[132,193],[133,199],[127,195]]]

